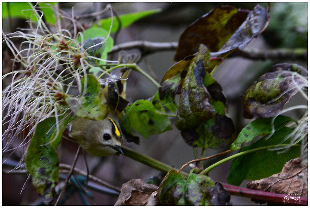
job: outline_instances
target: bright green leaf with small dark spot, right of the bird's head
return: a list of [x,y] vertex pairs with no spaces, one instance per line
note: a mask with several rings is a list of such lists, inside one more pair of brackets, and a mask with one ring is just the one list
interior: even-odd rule
[[126,133],[133,135],[129,125],[135,132],[148,138],[153,134],[171,130],[170,119],[167,115],[158,111],[151,102],[147,100],[137,100],[125,109],[125,116],[121,121],[121,128]]

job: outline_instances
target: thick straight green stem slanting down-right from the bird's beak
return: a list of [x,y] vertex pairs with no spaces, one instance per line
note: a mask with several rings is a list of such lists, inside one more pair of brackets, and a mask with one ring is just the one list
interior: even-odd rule
[[[132,150],[126,146],[122,146],[122,150],[123,150],[123,153],[125,156],[135,160],[135,161],[138,161],[140,163],[143,163],[144,165],[147,165],[149,167],[152,167],[156,170],[159,170],[159,171],[162,171],[164,173],[168,173],[170,170],[175,170],[175,171],[178,171],[177,169],[165,164],[165,163],[162,163],[158,160],[155,160],[153,158],[150,158],[144,154],[141,154],[139,152],[136,152],[135,150]],[[185,173],[185,172],[179,172],[179,174],[184,178],[184,179],[187,179],[188,177],[188,173]]]

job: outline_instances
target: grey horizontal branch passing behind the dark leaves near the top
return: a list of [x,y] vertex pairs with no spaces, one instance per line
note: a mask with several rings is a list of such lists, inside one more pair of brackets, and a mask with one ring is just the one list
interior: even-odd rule
[[[138,48],[141,50],[142,55],[147,55],[150,53],[158,52],[158,51],[165,51],[165,50],[176,50],[178,47],[178,42],[149,42],[149,41],[131,41],[122,44],[118,44],[113,46],[113,49],[110,53],[115,53],[120,50],[126,49],[133,49]],[[212,57],[211,53],[211,57]],[[213,55],[214,56],[214,55]],[[307,60],[308,59],[308,50],[303,48],[297,49],[244,49],[242,51],[236,50],[229,57],[243,57],[247,59],[254,59],[254,60],[265,60],[265,59],[300,59],[300,60]]]

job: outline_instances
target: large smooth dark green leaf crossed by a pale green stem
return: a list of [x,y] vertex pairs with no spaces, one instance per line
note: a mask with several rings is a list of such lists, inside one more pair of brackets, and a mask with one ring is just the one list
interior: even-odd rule
[[[292,128],[283,127],[274,132],[268,139],[256,141],[252,145],[242,148],[239,152],[246,150],[281,144],[283,139],[293,131]],[[278,151],[259,150],[242,155],[232,160],[227,181],[229,184],[239,186],[243,180],[259,180],[273,174],[280,173],[284,164],[290,159],[300,156],[300,147],[293,146],[284,153]]]

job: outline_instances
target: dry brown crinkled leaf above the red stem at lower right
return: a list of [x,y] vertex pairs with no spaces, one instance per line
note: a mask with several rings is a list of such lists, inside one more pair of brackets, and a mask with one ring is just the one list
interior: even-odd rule
[[308,165],[295,158],[285,163],[281,173],[251,181],[247,188],[307,198],[307,176]]

